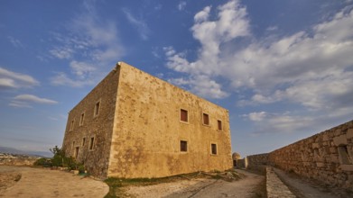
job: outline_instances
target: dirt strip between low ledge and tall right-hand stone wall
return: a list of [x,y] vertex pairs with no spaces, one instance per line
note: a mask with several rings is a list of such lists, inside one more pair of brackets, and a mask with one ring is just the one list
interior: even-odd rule
[[297,175],[285,173],[283,170],[274,168],[274,172],[286,184],[290,190],[299,198],[345,198],[353,197],[352,193],[348,193],[343,189],[327,187],[312,180],[301,178]]

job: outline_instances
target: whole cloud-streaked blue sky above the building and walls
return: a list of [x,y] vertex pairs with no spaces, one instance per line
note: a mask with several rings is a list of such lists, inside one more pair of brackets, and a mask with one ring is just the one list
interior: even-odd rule
[[233,151],[353,118],[353,2],[0,2],[0,146],[61,145],[70,109],[118,61],[229,110]]

